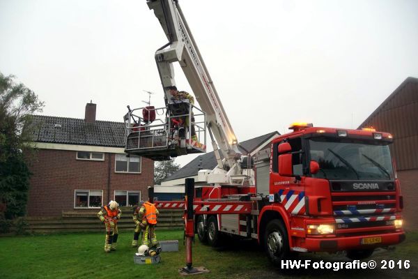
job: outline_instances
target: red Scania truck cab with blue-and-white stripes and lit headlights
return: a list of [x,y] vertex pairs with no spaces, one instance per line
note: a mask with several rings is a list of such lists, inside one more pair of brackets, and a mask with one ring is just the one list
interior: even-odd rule
[[392,135],[293,128],[272,142],[268,180],[263,160],[256,163],[256,191],[265,195],[268,189],[269,197],[260,209],[258,240],[270,259],[278,262],[291,251],[347,251],[362,259],[403,241]]

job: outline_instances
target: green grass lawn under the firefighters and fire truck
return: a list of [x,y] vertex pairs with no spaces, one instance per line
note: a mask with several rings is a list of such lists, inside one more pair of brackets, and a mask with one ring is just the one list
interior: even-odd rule
[[[160,264],[134,264],[130,248],[132,234],[122,232],[118,250],[104,253],[104,234],[74,233],[0,237],[0,278],[183,278],[178,269],[185,266],[183,231],[157,231],[158,239],[178,239],[179,252],[162,252]],[[328,254],[306,254],[299,259],[327,262],[347,261]],[[392,252],[378,252],[375,259],[410,260],[410,269],[299,270],[281,273],[268,263],[258,246],[249,241],[229,241],[223,248],[210,248],[196,241],[193,265],[205,266],[210,273],[195,278],[418,278],[418,232],[407,234],[407,241]]]

